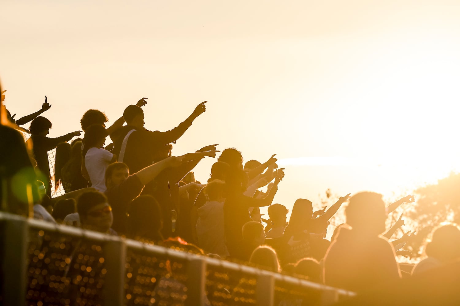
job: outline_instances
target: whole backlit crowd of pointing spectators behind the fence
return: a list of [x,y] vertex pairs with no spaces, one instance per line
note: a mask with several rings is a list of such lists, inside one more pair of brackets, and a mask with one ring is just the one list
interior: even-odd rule
[[[413,195],[385,205],[374,192],[347,194],[319,211],[310,200],[299,198],[288,220],[286,206],[273,203],[284,177],[276,155],[243,163],[240,151],[226,148],[202,184],[192,170],[203,158],[215,158],[218,145],[180,156],[172,150],[206,111],[206,101],[164,132],[144,128],[146,104],[142,98],[127,106],[109,127],[103,112],[88,110],[81,114],[81,130],[57,138],[47,137],[52,121],[41,116],[51,107],[47,100],[39,111],[17,120],[2,106],[2,210],[30,216],[33,205],[33,216],[48,222],[157,245],[180,237],[202,255],[358,293],[416,277],[460,256],[460,230],[447,224],[435,229],[427,257],[412,272],[400,269],[397,256],[412,256],[403,247],[414,232],[393,239],[404,226],[403,215],[388,230],[385,220],[403,203],[414,202]],[[29,122],[29,129],[21,127]],[[27,142],[19,131],[30,134]],[[53,149],[52,177],[47,152]],[[52,197],[60,186],[65,194]],[[265,186],[266,192],[259,191]],[[346,202],[346,223],[326,239],[331,218]],[[268,206],[268,219],[261,217],[263,206]]]

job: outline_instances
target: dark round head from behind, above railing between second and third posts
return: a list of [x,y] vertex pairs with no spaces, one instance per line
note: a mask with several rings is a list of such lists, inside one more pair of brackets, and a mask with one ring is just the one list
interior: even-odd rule
[[140,195],[131,201],[128,208],[128,232],[132,238],[162,240],[161,228],[161,207],[153,196]]

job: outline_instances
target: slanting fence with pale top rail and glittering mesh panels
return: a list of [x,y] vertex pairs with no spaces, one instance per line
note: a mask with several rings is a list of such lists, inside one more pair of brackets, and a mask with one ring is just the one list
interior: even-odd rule
[[329,305],[279,273],[0,212],[0,305]]

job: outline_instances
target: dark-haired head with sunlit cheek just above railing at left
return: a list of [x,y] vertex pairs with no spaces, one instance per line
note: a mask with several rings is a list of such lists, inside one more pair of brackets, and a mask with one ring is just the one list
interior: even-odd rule
[[81,227],[106,233],[113,223],[112,207],[107,197],[98,191],[88,191],[77,200]]

